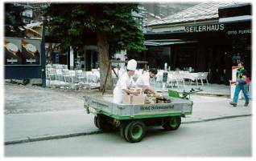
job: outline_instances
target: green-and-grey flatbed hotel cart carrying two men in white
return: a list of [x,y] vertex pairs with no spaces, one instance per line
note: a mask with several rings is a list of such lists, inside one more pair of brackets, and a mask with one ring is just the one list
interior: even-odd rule
[[[187,92],[188,94],[194,93]],[[173,92],[169,92],[169,95]],[[186,95],[186,96],[187,96]],[[130,143],[137,143],[146,135],[147,126],[162,126],[167,131],[180,127],[181,117],[192,114],[192,101],[186,97],[163,96],[169,103],[118,104],[112,95],[85,95],[85,110],[93,113],[94,124],[102,131],[120,130]]]

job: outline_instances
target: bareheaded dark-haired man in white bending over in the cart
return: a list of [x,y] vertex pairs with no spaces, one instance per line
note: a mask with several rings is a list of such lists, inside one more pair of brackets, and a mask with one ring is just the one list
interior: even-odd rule
[[139,88],[142,88],[142,91],[150,91],[153,93],[156,97],[159,97],[159,93],[157,93],[150,84],[150,78],[155,78],[155,75],[157,74],[157,70],[150,69],[148,72],[143,73],[140,75],[136,81],[136,86]]

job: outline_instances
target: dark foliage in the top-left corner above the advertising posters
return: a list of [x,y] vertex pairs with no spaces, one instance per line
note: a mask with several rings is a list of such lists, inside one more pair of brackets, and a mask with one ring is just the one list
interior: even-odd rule
[[13,3],[5,3],[5,36],[20,37],[25,36],[22,12],[23,6],[14,6]]

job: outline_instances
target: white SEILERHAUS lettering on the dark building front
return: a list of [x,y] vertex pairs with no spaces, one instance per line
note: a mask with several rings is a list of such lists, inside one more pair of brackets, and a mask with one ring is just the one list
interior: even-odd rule
[[185,31],[187,33],[221,31],[224,29],[225,29],[225,26],[223,23],[213,24],[213,25],[202,25],[202,26],[185,26]]

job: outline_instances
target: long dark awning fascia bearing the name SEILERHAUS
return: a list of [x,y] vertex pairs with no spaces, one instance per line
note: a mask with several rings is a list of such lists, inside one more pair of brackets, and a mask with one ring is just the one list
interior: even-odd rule
[[[246,18],[246,19],[242,19]],[[223,22],[206,23],[194,26],[184,26],[184,30],[146,33],[145,39],[166,40],[182,39],[184,41],[197,41],[200,38],[237,38],[251,36],[252,21],[250,16],[238,18],[224,18]],[[180,43],[180,42],[175,42]]]

